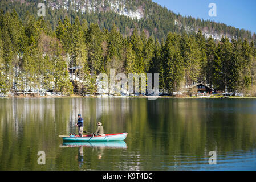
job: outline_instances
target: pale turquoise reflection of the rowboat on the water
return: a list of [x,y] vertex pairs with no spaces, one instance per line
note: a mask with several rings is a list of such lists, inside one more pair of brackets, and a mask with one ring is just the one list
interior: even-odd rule
[[124,141],[111,142],[63,142],[60,147],[100,147],[100,148],[127,148]]

